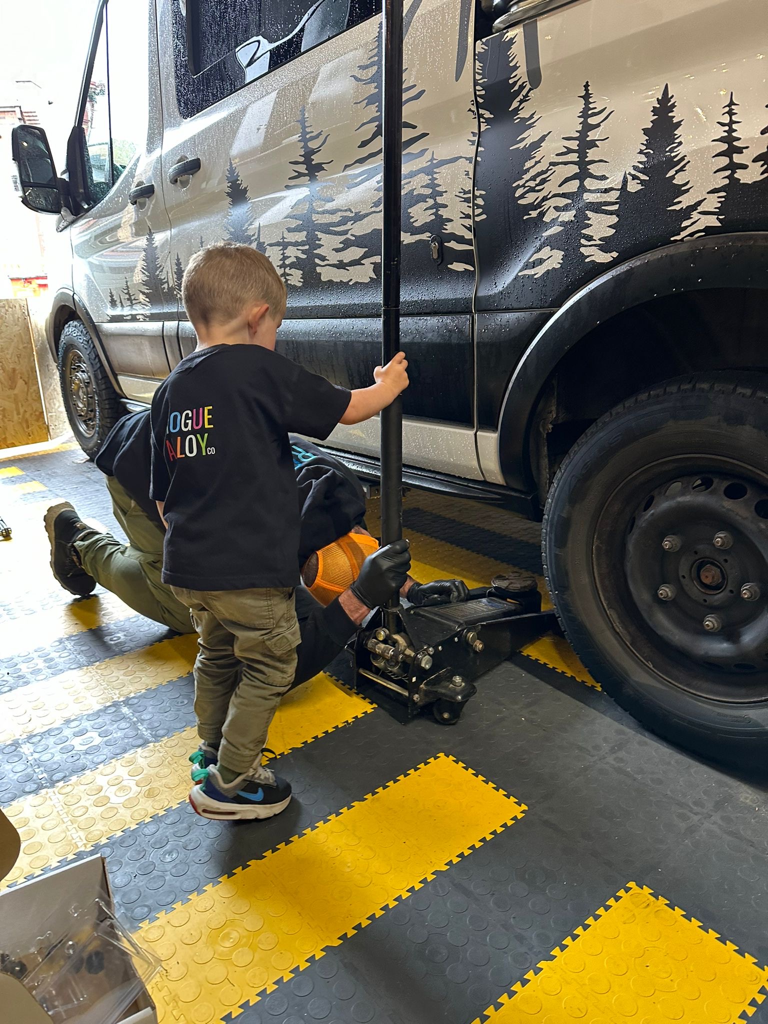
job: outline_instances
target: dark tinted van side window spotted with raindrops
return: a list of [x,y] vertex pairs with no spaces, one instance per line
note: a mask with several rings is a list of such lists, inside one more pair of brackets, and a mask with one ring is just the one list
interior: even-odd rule
[[183,118],[377,13],[378,0],[173,0]]

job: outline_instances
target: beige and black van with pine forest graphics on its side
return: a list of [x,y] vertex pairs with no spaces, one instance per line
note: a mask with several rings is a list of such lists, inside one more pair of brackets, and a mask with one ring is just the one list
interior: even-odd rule
[[[657,732],[768,753],[768,7],[406,0],[406,478],[544,517],[591,673]],[[359,386],[379,352],[375,0],[104,0],[56,213],[48,325],[93,455],[195,345],[190,254],[289,292],[281,344]],[[376,424],[329,442],[376,473]]]

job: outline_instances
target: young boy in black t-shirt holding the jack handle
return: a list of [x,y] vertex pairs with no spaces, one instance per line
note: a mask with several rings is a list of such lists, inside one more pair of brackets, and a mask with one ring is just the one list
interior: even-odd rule
[[[286,287],[248,246],[210,246],[182,282],[198,347],[152,403],[152,490],[167,532],[163,582],[198,631],[195,713],[202,772],[189,800],[209,818],[266,818],[291,786],[261,763],[296,669],[299,502],[289,431],[325,439],[408,387],[400,352],[348,391],[274,351]],[[404,551],[404,542],[401,542]]]

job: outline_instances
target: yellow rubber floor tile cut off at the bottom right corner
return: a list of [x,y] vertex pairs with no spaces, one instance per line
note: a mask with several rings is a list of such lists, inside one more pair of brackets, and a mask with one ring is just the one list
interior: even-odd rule
[[634,882],[552,956],[484,1021],[735,1024],[768,984],[754,957]]

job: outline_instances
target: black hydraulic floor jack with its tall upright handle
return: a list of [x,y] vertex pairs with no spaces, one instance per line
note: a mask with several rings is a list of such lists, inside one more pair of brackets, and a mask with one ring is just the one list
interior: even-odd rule
[[[383,0],[384,125],[382,365],[400,348],[400,197],[402,186],[402,0]],[[402,537],[402,404],[381,414],[381,543]],[[467,601],[404,607],[395,596],[377,610],[354,646],[355,688],[400,721],[431,707],[451,725],[477,692],[475,680],[543,636],[554,613],[542,611],[527,572],[497,578]],[[388,699],[391,698],[391,699]]]

